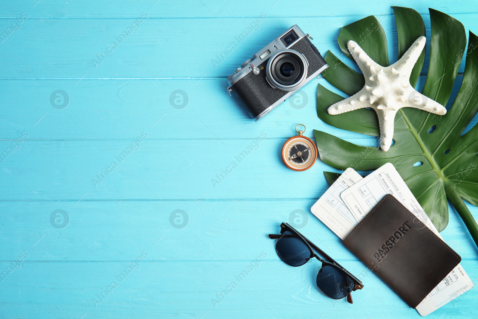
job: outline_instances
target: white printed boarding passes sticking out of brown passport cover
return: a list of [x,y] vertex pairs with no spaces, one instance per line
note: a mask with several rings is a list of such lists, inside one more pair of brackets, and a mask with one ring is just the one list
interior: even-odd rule
[[[397,198],[430,230],[442,238],[392,164],[387,163],[362,178],[348,168],[312,206],[312,213],[342,240],[387,194]],[[443,238],[442,238],[443,239]],[[426,316],[473,287],[458,264],[416,307]]]

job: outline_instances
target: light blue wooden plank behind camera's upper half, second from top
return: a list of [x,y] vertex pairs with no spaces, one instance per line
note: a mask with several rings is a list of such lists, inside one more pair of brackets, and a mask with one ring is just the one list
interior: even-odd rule
[[[424,19],[429,35],[428,17]],[[82,78],[227,77],[293,24],[310,33],[321,52],[330,49],[340,55],[336,42],[339,28],[356,20],[355,16],[340,20],[336,17],[266,18],[257,30],[250,29],[250,34],[239,42],[236,37],[247,30],[252,18],[229,19],[227,27],[216,19],[147,19],[138,24],[138,30],[131,29],[129,35],[123,35],[121,41],[117,38],[130,27],[130,19],[112,19],[105,26],[97,19],[29,18],[1,44],[1,78],[78,81]],[[471,30],[478,27],[473,14],[462,14],[460,20]],[[10,22],[5,20],[7,24]],[[382,20],[385,30],[391,34],[388,42],[392,61],[396,60],[392,46],[396,38],[394,23],[392,16]],[[113,42],[116,48],[111,46]],[[232,48],[232,42],[237,43],[233,50],[228,49]],[[31,43],[37,43],[35,55],[31,54]],[[65,43],[75,45],[62,45]],[[425,65],[426,61],[428,55]],[[463,67],[464,63],[460,72]]]

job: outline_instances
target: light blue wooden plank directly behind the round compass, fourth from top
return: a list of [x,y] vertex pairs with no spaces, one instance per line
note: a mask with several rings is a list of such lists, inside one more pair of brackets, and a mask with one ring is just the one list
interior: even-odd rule
[[315,198],[326,189],[322,172],[330,167],[320,161],[294,182],[299,176],[279,155],[287,138],[137,143],[142,132],[149,130],[125,141],[24,141],[2,163],[11,187],[1,199]]

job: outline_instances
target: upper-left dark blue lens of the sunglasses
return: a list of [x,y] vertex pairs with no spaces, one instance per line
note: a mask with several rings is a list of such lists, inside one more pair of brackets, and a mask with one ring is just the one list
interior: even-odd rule
[[301,266],[310,259],[309,247],[291,231],[282,233],[275,250],[279,257],[291,266]]

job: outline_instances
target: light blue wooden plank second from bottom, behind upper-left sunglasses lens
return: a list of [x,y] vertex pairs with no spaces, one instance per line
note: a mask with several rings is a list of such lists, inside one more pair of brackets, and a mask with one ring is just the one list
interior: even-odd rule
[[[142,251],[148,253],[150,262],[220,264],[249,260],[260,253],[258,249],[272,257],[275,241],[267,234],[278,233],[282,221],[338,261],[356,261],[340,239],[310,213],[314,202],[315,198],[1,201],[0,267],[6,268],[23,251],[28,253],[26,263],[97,262],[101,267],[102,262],[133,260]],[[478,217],[476,208],[468,207]],[[472,239],[454,210],[450,209],[449,216],[441,234],[461,255],[465,270],[474,269]]]

